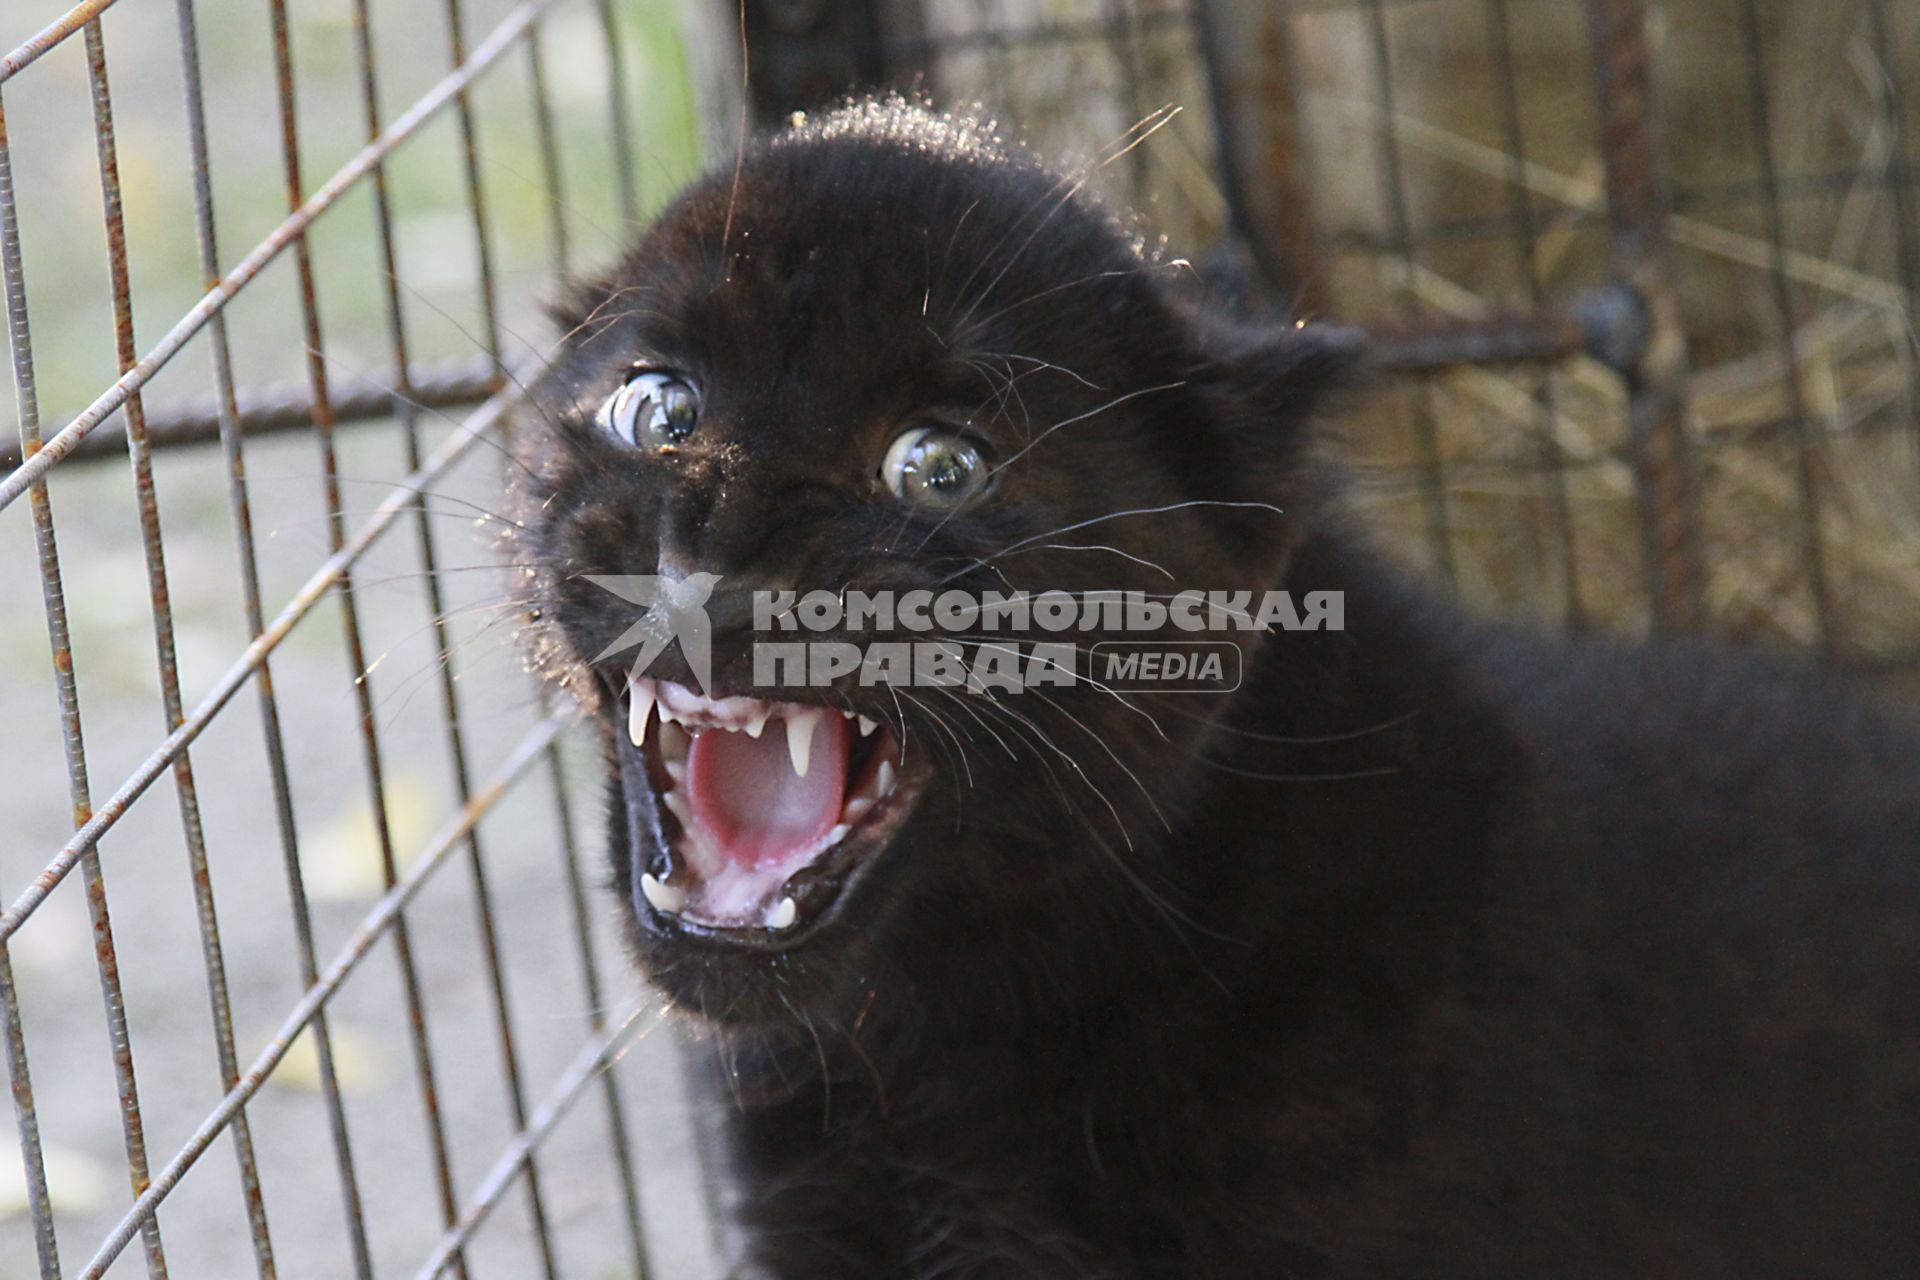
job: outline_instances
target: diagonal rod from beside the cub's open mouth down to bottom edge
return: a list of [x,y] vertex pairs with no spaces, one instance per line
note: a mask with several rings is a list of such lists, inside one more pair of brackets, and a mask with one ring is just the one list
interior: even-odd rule
[[499,770],[486,779],[476,791],[474,798],[457,812],[447,823],[426,841],[420,856],[407,865],[407,875],[396,881],[380,900],[372,904],[372,910],[361,917],[359,929],[348,944],[334,956],[326,965],[326,973],[305,990],[305,994],[294,1004],[280,1029],[267,1040],[267,1046],[259,1055],[248,1065],[240,1080],[227,1090],[219,1105],[207,1113],[207,1119],[200,1123],[194,1136],[188,1138],[186,1146],[175,1153],[167,1167],[159,1171],[154,1184],[134,1199],[132,1207],[119,1221],[119,1224],[108,1234],[94,1253],[92,1261],[86,1263],[86,1270],[81,1272],[81,1280],[98,1280],[106,1274],[106,1268],[113,1265],[113,1259],[121,1255],[127,1244],[134,1238],[142,1224],[152,1222],[159,1201],[163,1201],[173,1188],[180,1184],[180,1178],[205,1155],[213,1140],[221,1136],[234,1115],[261,1090],[267,1077],[273,1075],[280,1059],[294,1046],[294,1040],[305,1031],[319,1011],[332,1000],[334,992],[353,975],[367,954],[372,950],[388,933],[396,933],[401,927],[401,913],[407,904],[420,892],[428,877],[440,869],[447,856],[459,846],[459,842],[470,833],[482,818],[486,818],[499,804],[515,783],[526,773],[526,770],[541,758],[547,745],[553,743],[555,735],[561,731],[563,723],[559,720],[543,720],[534,725],[526,737],[513,748],[513,752],[501,762]]

